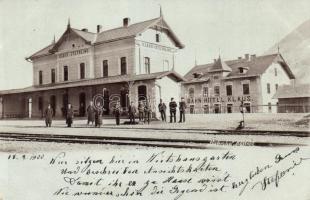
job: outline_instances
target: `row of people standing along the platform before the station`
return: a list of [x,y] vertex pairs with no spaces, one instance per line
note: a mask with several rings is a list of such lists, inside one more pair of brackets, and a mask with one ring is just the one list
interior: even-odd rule
[[[89,106],[86,109],[87,113],[87,125],[93,125],[95,123],[95,127],[100,127],[102,125],[102,115],[105,111],[104,108],[100,106],[100,102],[97,103],[98,105],[95,106],[93,101],[89,102]],[[174,98],[171,98],[169,102],[169,111],[170,111],[170,123],[176,123],[176,111],[177,111],[177,103],[175,102]],[[166,122],[166,110],[167,106],[160,99],[160,103],[158,104],[158,110],[161,115],[161,119],[163,122]],[[186,111],[186,103],[184,98],[181,98],[181,102],[179,103],[179,111],[180,111],[180,120],[179,123],[185,122],[185,111]],[[113,107],[113,115],[115,116],[116,125],[120,124],[120,115],[121,115],[121,106],[120,102],[117,101],[115,106]],[[128,116],[129,116],[129,123],[136,124],[136,115],[139,117],[139,122],[150,123],[151,115],[152,115],[152,107],[149,100],[147,101],[139,101],[138,108],[136,108],[134,102],[130,102],[128,107]],[[49,104],[44,112],[45,116],[45,124],[46,127],[51,127],[52,125],[52,118],[54,116],[53,109]],[[73,117],[74,117],[74,110],[72,105],[69,103],[68,108],[66,110],[66,124],[67,127],[71,127],[73,124]]]

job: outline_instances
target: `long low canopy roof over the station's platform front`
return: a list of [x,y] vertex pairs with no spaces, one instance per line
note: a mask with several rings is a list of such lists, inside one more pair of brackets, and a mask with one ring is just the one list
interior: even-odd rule
[[156,72],[156,73],[151,73],[151,74],[140,74],[140,75],[126,74],[126,75],[117,75],[117,76],[109,76],[109,77],[101,77],[101,78],[93,78],[93,79],[83,79],[83,80],[77,80],[77,81],[66,81],[66,82],[55,83],[55,84],[30,86],[30,87],[22,88],[22,89],[3,90],[3,91],[0,91],[0,95],[27,93],[27,92],[36,92],[36,91],[54,90],[54,89],[72,88],[72,87],[85,87],[85,86],[92,86],[92,85],[121,83],[121,82],[129,82],[129,81],[153,80],[153,79],[161,79],[166,76],[172,78],[176,82],[185,81],[185,79],[181,75],[176,73],[175,71],[164,71],[164,72]]

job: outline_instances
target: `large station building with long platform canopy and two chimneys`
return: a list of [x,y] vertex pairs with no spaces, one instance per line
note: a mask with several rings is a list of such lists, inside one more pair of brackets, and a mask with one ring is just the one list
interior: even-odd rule
[[[120,20],[121,21],[121,20]],[[51,104],[56,117],[71,103],[76,116],[85,116],[88,102],[100,103],[105,115],[120,101],[149,100],[157,112],[159,99],[180,97],[184,78],[175,70],[175,55],[184,45],[164,17],[96,32],[75,29],[70,21],[57,40],[32,54],[33,85],[0,91],[0,117],[42,117]]]

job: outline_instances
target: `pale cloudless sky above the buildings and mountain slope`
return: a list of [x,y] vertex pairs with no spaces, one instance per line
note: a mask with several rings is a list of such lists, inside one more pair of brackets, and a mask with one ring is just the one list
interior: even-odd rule
[[[261,55],[310,19],[309,0],[0,0],[0,90],[32,84],[32,64],[25,57],[61,37],[71,27],[96,32],[159,16],[185,44],[176,71],[195,64],[244,54]],[[281,48],[281,47],[280,47]],[[195,59],[196,58],[196,59]]]

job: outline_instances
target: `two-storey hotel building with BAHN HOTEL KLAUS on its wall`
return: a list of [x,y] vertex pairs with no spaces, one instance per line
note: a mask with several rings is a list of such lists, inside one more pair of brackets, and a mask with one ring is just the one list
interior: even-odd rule
[[182,83],[189,113],[277,112],[278,87],[295,76],[281,54],[249,55],[194,66]]

